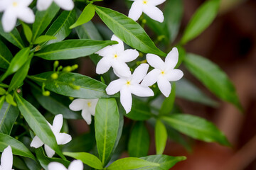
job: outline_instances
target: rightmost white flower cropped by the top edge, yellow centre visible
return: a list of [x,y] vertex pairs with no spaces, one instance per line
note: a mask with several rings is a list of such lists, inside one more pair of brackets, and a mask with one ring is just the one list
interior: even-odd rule
[[146,13],[147,16],[162,23],[164,21],[163,12],[156,6],[164,3],[166,0],[132,0],[131,9],[129,10],[129,18],[137,21],[142,15],[142,12]]

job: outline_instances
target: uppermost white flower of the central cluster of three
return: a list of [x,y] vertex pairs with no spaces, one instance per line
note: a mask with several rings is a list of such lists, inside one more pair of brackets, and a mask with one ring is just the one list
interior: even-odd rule
[[130,70],[126,62],[135,60],[139,56],[139,52],[132,49],[124,50],[124,42],[115,35],[112,35],[111,40],[117,41],[118,44],[107,46],[102,50],[95,52],[103,57],[97,64],[96,72],[97,74],[104,74],[110,67],[113,67],[115,72],[118,72],[124,77],[129,77]]

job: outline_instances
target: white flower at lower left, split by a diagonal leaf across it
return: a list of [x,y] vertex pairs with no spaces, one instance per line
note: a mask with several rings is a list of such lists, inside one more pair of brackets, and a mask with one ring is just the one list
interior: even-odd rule
[[[54,120],[53,120],[53,125],[50,125],[50,123],[48,123],[48,125],[50,126],[50,129],[53,131],[53,134],[55,135],[56,141],[58,145],[64,145],[68,142],[70,142],[70,140],[72,140],[72,137],[66,133],[60,133],[60,130],[63,126],[63,115],[59,114],[56,115]],[[41,147],[45,145],[45,149],[46,149],[46,154],[48,157],[53,157],[53,155],[55,154],[55,151],[53,149],[51,149],[48,145],[44,144],[38,136],[35,136],[31,142],[31,147]]]

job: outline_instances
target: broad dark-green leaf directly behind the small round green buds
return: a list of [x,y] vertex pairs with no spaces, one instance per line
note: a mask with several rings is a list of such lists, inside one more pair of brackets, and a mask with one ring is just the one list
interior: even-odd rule
[[[53,73],[45,72],[37,74],[35,77],[38,77],[42,81],[48,80],[45,82],[46,89],[63,96],[85,99],[113,97],[106,94],[105,89],[107,86],[100,81],[77,73],[63,73],[59,75],[58,79],[52,80],[50,76]],[[74,89],[73,86],[78,86],[80,89]]]

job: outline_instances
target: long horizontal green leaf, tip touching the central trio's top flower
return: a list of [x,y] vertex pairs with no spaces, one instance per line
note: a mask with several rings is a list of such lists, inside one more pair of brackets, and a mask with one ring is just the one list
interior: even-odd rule
[[35,53],[35,56],[45,60],[68,60],[78,57],[92,55],[102,48],[117,44],[115,41],[98,40],[64,40],[47,45],[42,50]]

